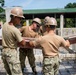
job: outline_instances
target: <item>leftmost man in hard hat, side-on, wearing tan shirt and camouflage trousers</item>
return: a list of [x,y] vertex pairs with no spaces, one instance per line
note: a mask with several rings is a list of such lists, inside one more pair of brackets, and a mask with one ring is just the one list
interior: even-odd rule
[[20,7],[14,7],[11,10],[11,20],[6,22],[2,28],[2,60],[7,75],[23,75],[20,67],[17,44],[24,46],[25,41],[21,37],[20,31],[15,25],[20,24],[24,18],[23,11]]

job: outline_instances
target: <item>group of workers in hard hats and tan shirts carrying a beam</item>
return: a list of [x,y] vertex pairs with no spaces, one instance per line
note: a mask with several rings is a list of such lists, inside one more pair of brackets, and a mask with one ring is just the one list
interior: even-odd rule
[[[29,26],[16,28],[21,19],[25,18],[20,7],[12,8],[10,18],[10,22],[4,23],[2,28],[2,60],[6,74],[23,75],[27,56],[33,74],[37,75],[33,48],[40,47],[43,53],[43,75],[58,75],[59,47],[69,48],[70,42],[56,35],[56,19],[46,16],[43,21],[44,28],[41,27],[39,18],[34,18]],[[38,31],[41,31],[43,36]],[[35,38],[35,40],[27,42],[23,37]]]

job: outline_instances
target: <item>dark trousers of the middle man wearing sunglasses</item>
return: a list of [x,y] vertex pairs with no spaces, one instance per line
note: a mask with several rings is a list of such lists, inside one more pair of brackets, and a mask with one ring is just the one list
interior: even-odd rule
[[30,66],[33,68],[35,67],[35,57],[34,57],[34,53],[33,53],[33,49],[29,49],[29,48],[20,48],[19,49],[19,56],[20,56],[20,63],[21,63],[21,68],[22,71],[24,70],[25,66],[25,59],[26,56],[28,58],[29,64]]

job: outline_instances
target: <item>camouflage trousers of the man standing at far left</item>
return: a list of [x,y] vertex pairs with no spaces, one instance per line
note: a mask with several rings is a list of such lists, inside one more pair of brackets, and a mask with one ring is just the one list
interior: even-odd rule
[[22,75],[19,54],[17,53],[16,49],[3,49],[2,60],[7,75]]

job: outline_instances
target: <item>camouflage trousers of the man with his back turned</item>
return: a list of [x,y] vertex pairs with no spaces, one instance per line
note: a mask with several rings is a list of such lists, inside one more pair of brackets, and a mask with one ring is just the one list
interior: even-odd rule
[[44,57],[43,59],[43,75],[58,75],[59,58],[55,56]]

